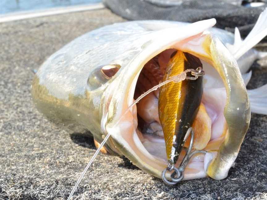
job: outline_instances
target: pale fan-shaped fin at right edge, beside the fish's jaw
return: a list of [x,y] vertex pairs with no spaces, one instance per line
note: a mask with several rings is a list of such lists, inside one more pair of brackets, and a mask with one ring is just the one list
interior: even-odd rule
[[267,84],[247,91],[251,112],[267,115]]

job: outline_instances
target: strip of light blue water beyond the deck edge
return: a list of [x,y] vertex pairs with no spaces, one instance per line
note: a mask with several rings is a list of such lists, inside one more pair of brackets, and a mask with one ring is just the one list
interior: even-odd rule
[[17,11],[99,3],[101,0],[0,0],[0,15]]

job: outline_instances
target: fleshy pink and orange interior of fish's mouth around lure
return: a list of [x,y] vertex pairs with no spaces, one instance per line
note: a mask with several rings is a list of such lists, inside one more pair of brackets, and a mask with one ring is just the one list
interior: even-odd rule
[[[161,82],[167,63],[170,62],[170,58],[176,52],[177,50],[174,48],[164,50],[144,65],[137,80],[134,99],[137,99],[141,94]],[[202,63],[207,65],[204,60],[202,60]],[[198,63],[195,63],[195,65],[198,65]],[[209,71],[210,69],[207,70]],[[209,89],[213,90],[213,92]],[[213,98],[214,96],[216,98]],[[159,89],[142,98],[137,103],[136,108],[133,108],[134,121],[137,121],[137,127],[133,134],[137,134],[140,142],[146,149],[146,154],[149,153],[166,167],[168,161],[163,128],[159,120],[158,102]],[[223,115],[225,102],[226,90],[224,87],[215,89],[206,87],[200,108],[192,126],[195,133],[193,150],[204,150],[211,153],[197,153],[189,160],[186,171],[184,172],[185,180],[206,176],[207,167],[213,159],[213,156],[216,156],[216,152],[212,151],[218,151],[227,132],[227,124]],[[185,148],[189,147],[190,139],[189,137],[186,140],[184,144]],[[134,142],[137,144],[135,140]],[[139,144],[140,142],[138,141]],[[179,167],[185,153],[186,149],[183,149],[175,164],[176,168]]]

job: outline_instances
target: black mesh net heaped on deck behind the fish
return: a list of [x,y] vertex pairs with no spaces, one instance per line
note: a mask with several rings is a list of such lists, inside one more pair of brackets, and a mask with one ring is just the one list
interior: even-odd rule
[[267,5],[267,0],[104,0],[103,2],[112,12],[129,20],[166,19],[196,22],[215,18],[216,27],[231,32],[238,27],[242,36],[249,33]]

